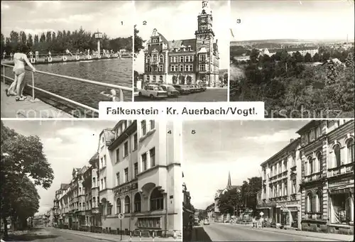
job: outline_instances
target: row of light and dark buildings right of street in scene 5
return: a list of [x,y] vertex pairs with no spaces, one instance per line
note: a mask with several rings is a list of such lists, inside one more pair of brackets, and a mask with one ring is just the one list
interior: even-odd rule
[[258,209],[289,229],[354,234],[354,120],[315,120],[261,164]]

